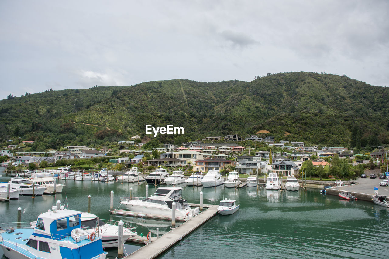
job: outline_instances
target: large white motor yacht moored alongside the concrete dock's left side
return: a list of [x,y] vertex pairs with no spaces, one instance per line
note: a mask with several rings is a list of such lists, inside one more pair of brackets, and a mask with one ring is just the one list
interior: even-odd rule
[[121,198],[123,204],[132,212],[172,216],[172,203],[175,202],[176,217],[192,217],[200,212],[200,208],[191,209],[187,200],[182,198],[182,187],[159,187],[153,196],[148,198]]

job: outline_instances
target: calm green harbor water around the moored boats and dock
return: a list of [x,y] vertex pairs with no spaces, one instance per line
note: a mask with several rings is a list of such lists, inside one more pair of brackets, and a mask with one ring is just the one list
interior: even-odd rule
[[[10,177],[1,178],[2,182]],[[88,211],[101,219],[122,220],[137,227],[137,233],[156,236],[170,230],[168,221],[114,216],[109,213],[110,191],[114,191],[114,208],[120,197],[145,197],[146,184],[67,180],[63,192],[0,203],[0,223],[15,222],[22,209],[22,222],[35,221],[56,200],[69,209]],[[263,187],[228,189],[183,186],[183,197],[190,203],[219,203],[235,199],[240,209],[230,216],[215,216],[160,258],[387,258],[389,245],[388,209],[366,201],[340,200],[321,195],[319,189],[307,191],[266,191]],[[156,187],[149,186],[149,195]],[[120,206],[119,209],[124,209]],[[126,243],[127,254],[140,245]],[[109,258],[117,256],[108,250]],[[2,251],[0,252],[0,254]],[[3,257],[4,258],[4,257]]]

